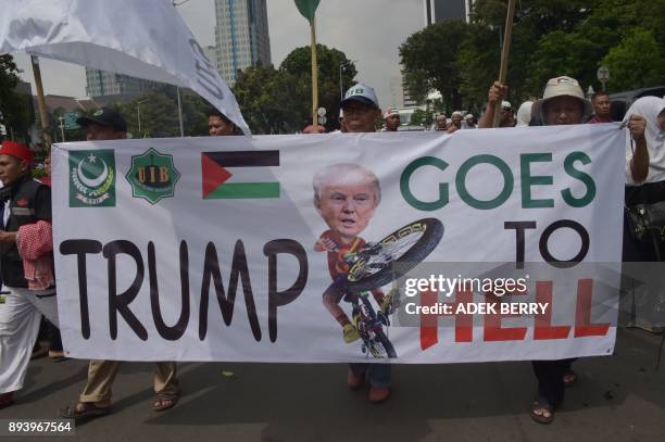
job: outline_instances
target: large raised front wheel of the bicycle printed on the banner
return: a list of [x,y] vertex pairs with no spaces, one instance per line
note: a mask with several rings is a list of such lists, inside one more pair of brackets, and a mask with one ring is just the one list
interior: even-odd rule
[[[436,218],[413,222],[384,238],[349,270],[347,289],[351,292],[385,286],[418,265],[441,241],[443,225]],[[400,263],[399,269],[392,263]]]

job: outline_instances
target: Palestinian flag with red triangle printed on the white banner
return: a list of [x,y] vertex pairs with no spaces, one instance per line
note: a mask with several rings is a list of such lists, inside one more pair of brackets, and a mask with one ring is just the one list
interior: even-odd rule
[[204,200],[279,198],[279,182],[264,167],[279,166],[279,151],[202,152]]

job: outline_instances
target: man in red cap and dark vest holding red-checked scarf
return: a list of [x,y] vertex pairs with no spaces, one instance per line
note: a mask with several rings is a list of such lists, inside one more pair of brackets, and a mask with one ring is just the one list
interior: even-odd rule
[[[34,156],[25,144],[2,142],[0,273],[9,293],[0,308],[0,408],[11,405],[13,392],[23,387],[41,315],[58,326],[51,191],[32,178]],[[46,267],[35,271],[38,261]]]

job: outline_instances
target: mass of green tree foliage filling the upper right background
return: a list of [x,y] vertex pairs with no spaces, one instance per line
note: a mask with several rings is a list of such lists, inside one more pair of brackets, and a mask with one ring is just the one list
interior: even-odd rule
[[[499,76],[505,13],[504,0],[477,0],[470,24],[444,22],[409,37],[400,56],[412,97],[424,99],[439,89],[447,110],[482,105]],[[520,0],[509,98],[518,103],[538,97],[559,75],[598,90],[595,72],[602,64],[611,71],[610,91],[662,85],[664,22],[665,0]]]

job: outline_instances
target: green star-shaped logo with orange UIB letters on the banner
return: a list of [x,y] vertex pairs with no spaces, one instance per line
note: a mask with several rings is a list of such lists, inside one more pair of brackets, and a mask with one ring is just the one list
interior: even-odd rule
[[180,174],[173,164],[173,155],[150,148],[142,155],[131,156],[131,169],[125,178],[131,185],[134,198],[155,204],[162,198],[173,197]]

